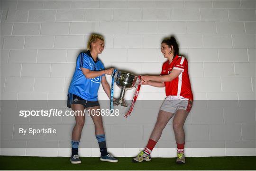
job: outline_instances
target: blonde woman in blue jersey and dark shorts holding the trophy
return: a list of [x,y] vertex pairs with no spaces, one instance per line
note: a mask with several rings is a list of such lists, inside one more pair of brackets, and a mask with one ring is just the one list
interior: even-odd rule
[[[87,44],[87,52],[81,52],[76,60],[75,72],[68,90],[68,107],[75,113],[83,113],[87,110],[95,126],[95,136],[98,140],[101,161],[118,162],[107,152],[106,138],[101,115],[91,115],[91,111],[100,111],[98,102],[98,90],[100,84],[106,94],[110,97],[110,85],[107,83],[105,74],[111,75],[114,68],[105,69],[98,54],[104,50],[104,39],[99,34],[91,34]],[[76,112],[78,111],[78,112]],[[78,145],[81,138],[85,116],[75,115],[75,126],[72,132],[72,155],[70,162],[73,164],[81,163],[78,157]]]

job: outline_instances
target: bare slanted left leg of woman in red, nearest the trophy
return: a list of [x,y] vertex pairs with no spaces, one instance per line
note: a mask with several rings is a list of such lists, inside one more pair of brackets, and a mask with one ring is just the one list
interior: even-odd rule
[[160,110],[158,113],[156,123],[155,123],[155,127],[151,133],[150,139],[157,142],[160,139],[163,129],[165,128],[166,124],[169,122],[169,120],[173,116],[174,116],[174,113]]

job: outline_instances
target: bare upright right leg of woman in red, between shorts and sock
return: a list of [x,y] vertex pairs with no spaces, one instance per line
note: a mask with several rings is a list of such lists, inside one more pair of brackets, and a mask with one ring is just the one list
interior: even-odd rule
[[188,111],[185,110],[177,110],[174,120],[173,120],[173,128],[174,128],[174,135],[176,143],[183,144],[185,142],[185,132],[183,129],[183,125],[186,121],[188,116]]

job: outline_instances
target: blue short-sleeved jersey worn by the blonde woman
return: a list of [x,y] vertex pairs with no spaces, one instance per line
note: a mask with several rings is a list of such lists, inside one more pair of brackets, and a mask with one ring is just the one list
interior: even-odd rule
[[95,77],[86,78],[81,68],[87,68],[91,71],[104,70],[101,60],[94,61],[91,52],[81,52],[76,59],[75,72],[69,85],[68,93],[78,95],[84,100],[98,101],[98,90],[101,84],[101,77],[105,74]]

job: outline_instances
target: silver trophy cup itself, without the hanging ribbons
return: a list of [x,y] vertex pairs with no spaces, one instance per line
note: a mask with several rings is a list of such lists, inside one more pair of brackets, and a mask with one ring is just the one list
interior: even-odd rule
[[126,90],[130,90],[133,87],[137,87],[139,80],[137,76],[134,76],[127,72],[118,71],[115,73],[114,80],[116,85],[121,89],[120,97],[113,102],[115,106],[121,105],[127,107],[127,104],[124,100],[124,95]]

